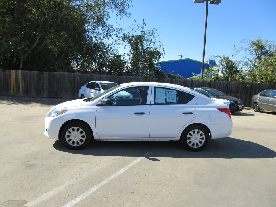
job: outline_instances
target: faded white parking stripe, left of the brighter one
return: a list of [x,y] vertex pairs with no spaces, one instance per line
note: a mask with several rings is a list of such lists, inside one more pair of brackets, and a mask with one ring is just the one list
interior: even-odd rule
[[109,161],[103,163],[101,166],[95,167],[95,168],[93,168],[92,170],[89,170],[89,171],[87,171],[87,172],[85,172],[85,173],[82,173],[80,176],[77,177],[77,179],[76,179],[76,178],[73,178],[73,179],[67,181],[66,183],[64,183],[63,185],[60,185],[60,186],[58,186],[57,188],[55,188],[55,189],[53,189],[53,190],[51,190],[51,191],[49,191],[49,192],[47,192],[47,193],[43,193],[41,196],[39,196],[39,197],[33,199],[32,201],[26,203],[24,206],[31,207],[31,206],[34,206],[35,204],[37,204],[37,203],[39,203],[39,202],[41,202],[41,201],[43,201],[43,200],[46,200],[46,199],[48,199],[48,198],[51,198],[51,197],[54,196],[55,194],[57,194],[57,193],[63,191],[66,187],[71,186],[71,185],[73,185],[74,183],[77,183],[78,181],[81,181],[82,179],[89,177],[89,176],[92,175],[93,173],[97,172],[97,171],[100,170],[101,168],[104,168],[104,167],[110,165],[111,163],[112,163],[112,161],[109,160]]

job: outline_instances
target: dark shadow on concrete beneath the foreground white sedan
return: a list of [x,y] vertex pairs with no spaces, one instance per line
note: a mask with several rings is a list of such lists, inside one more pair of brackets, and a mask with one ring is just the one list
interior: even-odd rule
[[168,158],[221,158],[221,159],[260,159],[274,158],[276,152],[251,141],[231,137],[210,140],[201,151],[186,150],[179,142],[174,141],[92,141],[82,150],[70,150],[61,141],[53,144],[56,150],[92,156],[140,157],[151,152],[147,157],[160,161],[159,157]]

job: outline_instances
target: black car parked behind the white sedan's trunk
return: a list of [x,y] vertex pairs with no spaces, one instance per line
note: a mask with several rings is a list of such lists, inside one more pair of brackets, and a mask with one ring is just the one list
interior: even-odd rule
[[226,95],[225,93],[218,91],[213,88],[208,87],[189,87],[191,90],[198,91],[199,93],[202,93],[203,95],[206,95],[210,98],[217,98],[217,99],[224,99],[227,101],[230,101],[229,104],[229,110],[230,112],[237,112],[242,111],[243,104],[240,99],[237,99],[233,96]]

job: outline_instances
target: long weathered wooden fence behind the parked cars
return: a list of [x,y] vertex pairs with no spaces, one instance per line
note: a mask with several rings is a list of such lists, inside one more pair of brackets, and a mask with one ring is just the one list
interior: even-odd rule
[[93,75],[63,72],[39,72],[26,70],[0,70],[0,95],[78,99],[78,91],[89,81],[112,81],[118,84],[136,81],[172,83],[192,87],[212,87],[241,99],[250,106],[253,95],[266,89],[276,89],[276,84],[229,81],[197,81],[173,78],[143,78],[131,76]]

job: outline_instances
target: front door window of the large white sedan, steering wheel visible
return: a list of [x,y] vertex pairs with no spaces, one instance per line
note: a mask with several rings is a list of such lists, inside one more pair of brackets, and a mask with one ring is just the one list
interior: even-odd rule
[[112,106],[145,105],[147,103],[148,86],[130,87],[110,95]]

